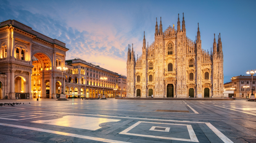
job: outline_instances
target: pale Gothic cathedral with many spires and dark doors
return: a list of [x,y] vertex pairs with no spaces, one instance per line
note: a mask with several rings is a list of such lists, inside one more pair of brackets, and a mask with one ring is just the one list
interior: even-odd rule
[[144,33],[142,55],[128,45],[128,98],[221,98],[223,97],[223,52],[220,34],[213,39],[213,52],[202,49],[199,26],[196,41],[186,36],[183,14],[177,28],[164,32],[162,20],[155,25],[155,41],[146,47]]

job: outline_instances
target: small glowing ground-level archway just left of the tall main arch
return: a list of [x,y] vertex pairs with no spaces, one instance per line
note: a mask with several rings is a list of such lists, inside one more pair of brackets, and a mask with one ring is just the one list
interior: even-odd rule
[[24,77],[16,77],[14,80],[15,84],[15,96],[16,99],[29,99],[30,95],[27,91],[27,82]]

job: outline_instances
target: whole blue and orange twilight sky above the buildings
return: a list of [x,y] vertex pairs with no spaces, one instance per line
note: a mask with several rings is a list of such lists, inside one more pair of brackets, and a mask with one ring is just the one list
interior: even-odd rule
[[256,69],[256,1],[7,1],[0,0],[0,20],[17,20],[52,39],[66,43],[66,60],[80,58],[126,75],[128,44],[136,55],[154,42],[155,18],[163,31],[175,25],[178,14],[186,34],[195,41],[199,23],[202,48],[221,33],[224,82]]

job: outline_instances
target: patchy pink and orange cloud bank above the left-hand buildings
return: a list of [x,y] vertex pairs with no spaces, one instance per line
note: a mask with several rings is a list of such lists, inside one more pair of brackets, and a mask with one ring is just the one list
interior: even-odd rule
[[126,35],[127,29],[114,26],[99,26],[91,31],[78,30],[68,26],[65,20],[51,15],[20,9],[7,1],[0,4],[0,18],[15,19],[52,39],[66,43],[69,48],[66,59],[81,58],[98,64],[110,71],[126,74],[126,51],[131,39]]

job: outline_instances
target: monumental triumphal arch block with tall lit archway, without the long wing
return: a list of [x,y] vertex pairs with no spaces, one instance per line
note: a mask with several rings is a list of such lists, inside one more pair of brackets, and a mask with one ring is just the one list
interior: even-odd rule
[[57,98],[65,87],[57,69],[65,66],[64,42],[7,20],[1,22],[0,44],[0,99]]

